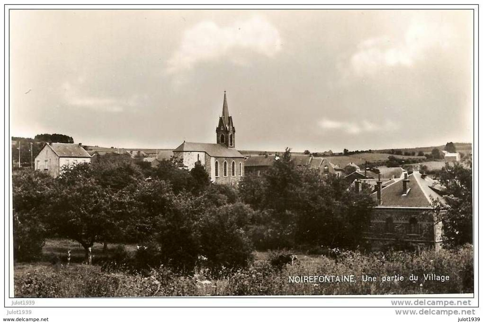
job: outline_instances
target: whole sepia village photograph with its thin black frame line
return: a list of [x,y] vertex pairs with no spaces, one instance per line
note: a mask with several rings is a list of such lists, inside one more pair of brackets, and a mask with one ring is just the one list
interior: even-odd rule
[[7,9],[8,301],[474,299],[473,8]]

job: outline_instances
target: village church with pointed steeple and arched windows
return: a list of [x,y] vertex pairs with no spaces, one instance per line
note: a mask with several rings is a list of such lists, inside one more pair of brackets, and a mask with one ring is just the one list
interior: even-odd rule
[[191,170],[200,162],[212,182],[237,184],[244,175],[245,157],[235,148],[235,127],[228,113],[227,92],[216,127],[216,143],[183,142],[173,150],[174,157]]

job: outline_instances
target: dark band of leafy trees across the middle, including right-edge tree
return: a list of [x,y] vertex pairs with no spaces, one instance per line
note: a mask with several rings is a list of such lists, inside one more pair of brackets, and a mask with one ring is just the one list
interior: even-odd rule
[[[106,154],[57,178],[14,172],[15,260],[38,260],[52,237],[79,242],[87,261],[94,243],[137,244],[150,265],[178,271],[192,271],[200,259],[213,269],[246,266],[254,249],[364,246],[371,191],[296,166],[289,149],[264,175],[244,176],[238,187],[213,184],[200,163],[188,171],[178,162],[153,168]],[[447,244],[461,245],[472,223],[471,169],[448,167],[441,183],[451,199],[439,208],[451,207],[441,212]]]

